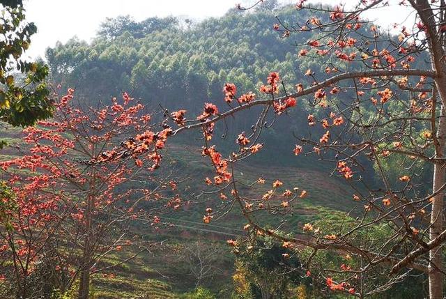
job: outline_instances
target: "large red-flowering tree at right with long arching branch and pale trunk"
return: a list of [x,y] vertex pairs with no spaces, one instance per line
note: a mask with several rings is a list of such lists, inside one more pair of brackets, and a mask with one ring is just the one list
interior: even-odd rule
[[[185,111],[174,112],[172,118],[180,125],[174,135],[193,128],[203,130],[202,153],[216,171],[215,178],[206,178],[206,183],[217,187],[215,192],[225,206],[240,208],[249,222],[245,227],[249,233],[274,236],[284,247],[311,249],[302,266],[314,279],[323,279],[328,290],[364,298],[390,289],[413,273],[424,273],[429,277],[429,298],[443,298],[446,3],[395,1],[412,10],[415,23],[410,28],[396,25],[399,36],[392,36],[363,17],[367,11],[385,10],[389,2],[361,0],[346,9],[312,7],[305,0],[298,1],[298,10],[317,15],[293,24],[278,18],[273,28],[284,38],[318,33],[299,45],[299,59],[318,59],[325,64],[325,73],[308,70],[302,74],[308,82],[282,82],[272,72],[261,86],[259,99],[254,93],[237,95],[236,86],[228,83],[224,86],[224,101],[229,104],[226,112],[220,113],[214,104],[206,104],[203,114],[190,120],[185,120]],[[295,84],[293,93],[284,90],[290,83]],[[352,211],[353,217],[331,228],[311,223],[301,229],[282,224],[266,228],[256,221],[256,215],[265,219],[269,212],[285,217],[307,193],[277,180],[265,194],[249,196],[243,192],[249,185],[233,167],[262,148],[259,140],[269,112],[286,114],[304,99],[308,105],[301,106],[309,111],[308,125],[318,128],[314,130],[318,136],[299,137],[295,155],[312,154],[334,163],[333,174],[355,189],[346,194],[348,200],[363,204]],[[259,121],[250,132],[236,137],[237,148],[231,155],[224,157],[210,145],[217,121],[257,105],[264,106]],[[397,176],[391,176],[388,169]],[[364,179],[362,173],[370,171],[376,171],[378,182]],[[210,222],[217,211],[208,208],[204,222]],[[287,231],[278,234],[277,229]],[[229,243],[240,245],[233,240]],[[346,262],[339,268],[312,271],[314,256],[328,251],[343,254]],[[383,274],[390,276],[374,280]]]

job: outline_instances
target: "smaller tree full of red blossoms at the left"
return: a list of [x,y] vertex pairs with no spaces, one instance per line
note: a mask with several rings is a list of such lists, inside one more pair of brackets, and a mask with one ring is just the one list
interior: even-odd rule
[[[24,130],[22,155],[0,162],[11,193],[1,194],[0,254],[11,263],[0,274],[20,298],[63,293],[75,281],[78,298],[89,298],[92,274],[127,261],[105,265],[102,258],[129,246],[134,254],[145,250],[134,231],[128,236],[130,221],[156,224],[169,199],[180,204],[176,183],[152,174],[171,129],[155,131],[126,93],[99,108],[74,105],[73,93],[56,102],[52,121]],[[121,143],[129,135],[135,138]],[[160,201],[156,210],[141,209],[148,200]]]

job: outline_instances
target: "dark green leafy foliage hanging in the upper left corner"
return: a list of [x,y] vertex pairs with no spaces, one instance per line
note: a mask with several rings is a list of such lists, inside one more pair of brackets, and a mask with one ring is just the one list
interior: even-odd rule
[[3,3],[0,18],[0,120],[15,126],[33,125],[52,115],[45,84],[48,67],[24,61],[21,56],[37,28],[25,22],[22,1]]

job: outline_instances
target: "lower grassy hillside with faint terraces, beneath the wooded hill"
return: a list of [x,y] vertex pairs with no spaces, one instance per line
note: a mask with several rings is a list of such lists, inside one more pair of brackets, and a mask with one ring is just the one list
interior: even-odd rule
[[[18,128],[3,128],[2,137],[8,140],[8,146],[3,148],[0,160],[10,160],[20,156],[16,146],[24,148],[21,130]],[[169,146],[166,157],[169,164],[174,166],[187,178],[181,185],[192,193],[199,192],[203,186],[203,178],[206,173],[211,174],[208,161],[199,155],[199,148],[173,144]],[[295,206],[295,213],[288,217],[287,226],[295,227],[296,233],[301,233],[300,227],[306,222],[328,218],[332,209],[347,210],[353,207],[353,201],[345,199],[348,186],[337,178],[327,176],[330,169],[312,169],[263,162],[261,169],[249,164],[249,161],[238,165],[236,175],[246,182],[256,181],[257,178],[265,178],[272,182],[281,178],[286,184],[299,186],[307,190],[309,196]],[[199,175],[197,175],[199,174]],[[261,194],[265,187],[252,188],[250,192]],[[187,194],[187,193],[186,193]],[[220,220],[211,224],[203,224],[202,217],[208,206],[218,206],[220,199],[216,197],[194,198],[193,194],[185,199],[190,199],[192,204],[184,206],[181,210],[172,210],[160,215],[162,224],[160,229],[153,231],[148,229],[148,222],[144,219],[134,223],[134,233],[139,233],[148,240],[153,240],[153,247],[149,252],[139,254],[124,265],[112,268],[105,274],[93,277],[93,291],[95,298],[116,298],[116,292],[120,298],[180,298],[182,294],[194,289],[195,280],[190,273],[187,260],[179,256],[187,254],[187,246],[203,240],[213,240],[212,247],[220,252],[215,259],[218,269],[213,277],[203,281],[203,285],[213,291],[217,298],[227,298],[232,291],[231,276],[233,275],[234,255],[226,245],[226,240],[245,236],[243,225],[245,220],[238,210],[232,210]],[[351,204],[346,204],[351,202]],[[220,201],[221,202],[221,201]],[[268,217],[268,221],[274,224],[279,217]],[[268,225],[268,222],[264,222]],[[204,243],[203,243],[204,246]],[[206,245],[206,250],[211,246]],[[214,250],[213,249],[213,250]],[[111,266],[120,259],[128,258],[136,252],[136,247],[129,247],[125,252],[118,252],[103,259],[101,266]],[[218,257],[218,258],[217,258]],[[222,289],[222,281],[228,284]]]

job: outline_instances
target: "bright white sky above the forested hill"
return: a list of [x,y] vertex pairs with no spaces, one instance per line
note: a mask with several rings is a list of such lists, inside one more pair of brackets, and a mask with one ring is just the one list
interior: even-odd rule
[[[31,39],[31,47],[26,56],[36,58],[45,55],[47,47],[53,47],[59,40],[65,43],[73,36],[90,42],[98,31],[100,23],[106,17],[131,15],[141,21],[148,17],[167,17],[169,15],[190,17],[203,20],[207,17],[219,17],[236,3],[253,3],[256,0],[24,0],[26,20],[38,27]],[[316,0],[314,0],[315,2]],[[392,3],[397,0],[390,0]],[[294,3],[293,0],[279,0],[282,3]],[[339,0],[318,0],[324,4],[337,4]],[[343,0],[357,3],[356,0]],[[247,4],[246,4],[247,5]],[[401,6],[393,5],[379,14],[369,13],[367,17],[377,20],[383,26],[392,26],[394,22],[403,22]],[[406,21],[407,22],[407,21]]]

